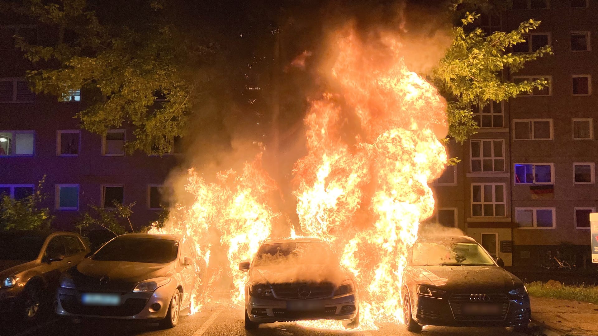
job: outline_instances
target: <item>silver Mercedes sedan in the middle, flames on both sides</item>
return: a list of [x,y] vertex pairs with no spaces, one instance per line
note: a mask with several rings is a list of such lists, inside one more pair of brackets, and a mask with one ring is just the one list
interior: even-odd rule
[[327,244],[319,239],[267,240],[253,261],[245,284],[245,329],[260,323],[344,320],[359,325],[358,288]]

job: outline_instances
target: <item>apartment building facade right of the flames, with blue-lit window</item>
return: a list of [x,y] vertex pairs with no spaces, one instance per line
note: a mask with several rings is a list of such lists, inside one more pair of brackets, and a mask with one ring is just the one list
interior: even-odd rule
[[545,78],[550,85],[480,111],[478,134],[449,145],[462,158],[450,168],[456,173],[435,184],[438,211],[454,211],[437,215],[454,218],[443,224],[454,223],[507,265],[539,265],[557,251],[578,265],[591,263],[589,213],[598,204],[596,17],[598,3],[591,0],[515,0],[502,16],[480,22],[491,32],[541,20],[513,52],[547,44],[554,52],[505,74],[514,83]]

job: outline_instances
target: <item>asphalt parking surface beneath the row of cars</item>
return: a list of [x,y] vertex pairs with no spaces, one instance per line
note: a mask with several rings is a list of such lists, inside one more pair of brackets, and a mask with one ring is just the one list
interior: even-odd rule
[[[4,323],[3,323],[4,324]],[[4,325],[5,326],[5,325]],[[2,328],[7,331],[6,328]],[[242,308],[232,308],[228,304],[212,303],[199,313],[182,316],[179,324],[172,329],[160,329],[157,324],[131,321],[100,320],[87,321],[75,325],[63,322],[55,317],[48,317],[43,322],[29,328],[17,328],[10,335],[144,335],[144,336],[402,336],[413,335],[405,331],[402,325],[381,325],[376,331],[339,332],[307,329],[294,323],[261,325],[252,332],[245,331]],[[445,328],[425,326],[422,335],[434,336],[521,336],[503,328]]]

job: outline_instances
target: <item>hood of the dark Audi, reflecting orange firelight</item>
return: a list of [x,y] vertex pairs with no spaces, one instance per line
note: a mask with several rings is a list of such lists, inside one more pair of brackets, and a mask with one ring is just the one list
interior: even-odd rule
[[414,270],[424,280],[420,283],[453,293],[504,293],[523,286],[518,277],[495,266],[420,266]]

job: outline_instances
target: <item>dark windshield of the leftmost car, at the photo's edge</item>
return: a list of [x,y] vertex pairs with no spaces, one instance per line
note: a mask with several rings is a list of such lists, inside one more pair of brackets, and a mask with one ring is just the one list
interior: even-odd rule
[[0,260],[31,261],[38,257],[44,237],[0,235]]

